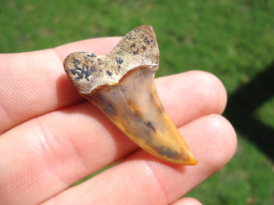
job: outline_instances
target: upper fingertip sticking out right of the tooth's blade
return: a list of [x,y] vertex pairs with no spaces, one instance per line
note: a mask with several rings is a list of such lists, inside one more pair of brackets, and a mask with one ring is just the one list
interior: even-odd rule
[[226,106],[225,87],[216,76],[207,72],[189,71],[165,76],[158,78],[155,85],[166,112],[177,127],[200,116],[221,114]]

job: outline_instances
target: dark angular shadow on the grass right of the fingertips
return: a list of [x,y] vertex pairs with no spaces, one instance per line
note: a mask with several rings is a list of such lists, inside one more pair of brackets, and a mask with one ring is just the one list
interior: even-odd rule
[[252,112],[274,96],[274,62],[248,84],[228,96],[224,116],[236,131],[274,160],[274,129],[258,121]]

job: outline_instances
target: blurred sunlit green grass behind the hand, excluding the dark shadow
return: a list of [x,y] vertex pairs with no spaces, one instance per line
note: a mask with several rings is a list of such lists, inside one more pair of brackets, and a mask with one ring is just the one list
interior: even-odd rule
[[142,24],[157,36],[158,77],[203,70],[227,89],[223,115],[236,129],[237,151],[186,196],[274,204],[273,0],[0,0],[0,53],[122,36]]

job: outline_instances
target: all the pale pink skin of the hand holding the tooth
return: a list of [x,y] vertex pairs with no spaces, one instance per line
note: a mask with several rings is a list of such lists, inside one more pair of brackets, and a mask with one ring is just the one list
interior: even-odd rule
[[192,198],[177,199],[222,168],[236,149],[234,129],[220,115],[227,100],[225,88],[201,71],[155,79],[167,114],[198,164],[158,159],[79,95],[63,68],[72,52],[103,55],[120,40],[91,39],[0,54],[0,204],[200,204]]

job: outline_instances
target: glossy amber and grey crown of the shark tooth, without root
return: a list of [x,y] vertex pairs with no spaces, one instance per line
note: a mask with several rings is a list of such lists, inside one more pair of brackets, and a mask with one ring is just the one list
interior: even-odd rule
[[88,95],[130,139],[152,155],[176,164],[195,165],[195,156],[164,110],[154,85],[158,66],[140,66],[119,83]]

